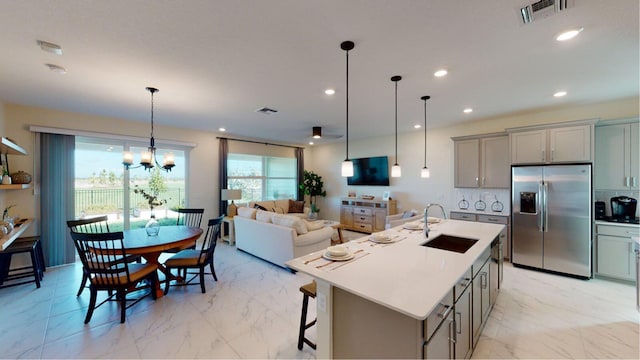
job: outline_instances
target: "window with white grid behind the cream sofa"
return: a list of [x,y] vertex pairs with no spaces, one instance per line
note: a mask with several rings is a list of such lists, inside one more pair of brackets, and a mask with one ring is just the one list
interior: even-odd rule
[[297,160],[250,154],[229,154],[227,188],[242,190],[239,202],[295,199]]

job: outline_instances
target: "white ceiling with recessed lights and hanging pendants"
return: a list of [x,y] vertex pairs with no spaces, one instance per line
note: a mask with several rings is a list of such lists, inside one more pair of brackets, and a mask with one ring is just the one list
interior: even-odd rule
[[639,95],[638,0],[576,0],[524,25],[527,3],[1,0],[0,100],[148,122],[155,86],[157,123],[304,144],[312,126],[345,132],[344,40],[352,139],[393,133],[393,75],[400,132],[424,122],[422,95],[430,128]]

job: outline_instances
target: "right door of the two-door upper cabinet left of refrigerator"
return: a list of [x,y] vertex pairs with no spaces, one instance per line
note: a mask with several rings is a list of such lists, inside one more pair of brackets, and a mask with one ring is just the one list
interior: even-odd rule
[[509,162],[509,137],[484,138],[480,142],[482,161],[481,186],[508,189],[511,186]]

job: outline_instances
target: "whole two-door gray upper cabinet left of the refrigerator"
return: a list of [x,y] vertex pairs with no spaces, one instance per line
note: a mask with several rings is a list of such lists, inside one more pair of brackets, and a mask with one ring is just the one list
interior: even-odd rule
[[509,138],[506,134],[452,139],[455,153],[455,187],[509,188]]

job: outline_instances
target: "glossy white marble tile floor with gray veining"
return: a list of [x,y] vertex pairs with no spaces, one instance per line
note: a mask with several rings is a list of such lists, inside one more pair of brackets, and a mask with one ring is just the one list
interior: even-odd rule
[[[0,358],[314,359],[314,350],[296,347],[298,288],[310,278],[226,243],[215,256],[219,281],[207,276],[206,294],[199,286],[172,287],[128,309],[125,324],[115,303],[83,323],[89,296],[75,296],[79,265],[49,268],[40,289],[0,289]],[[504,274],[473,358],[638,358],[632,285],[508,264]]]

